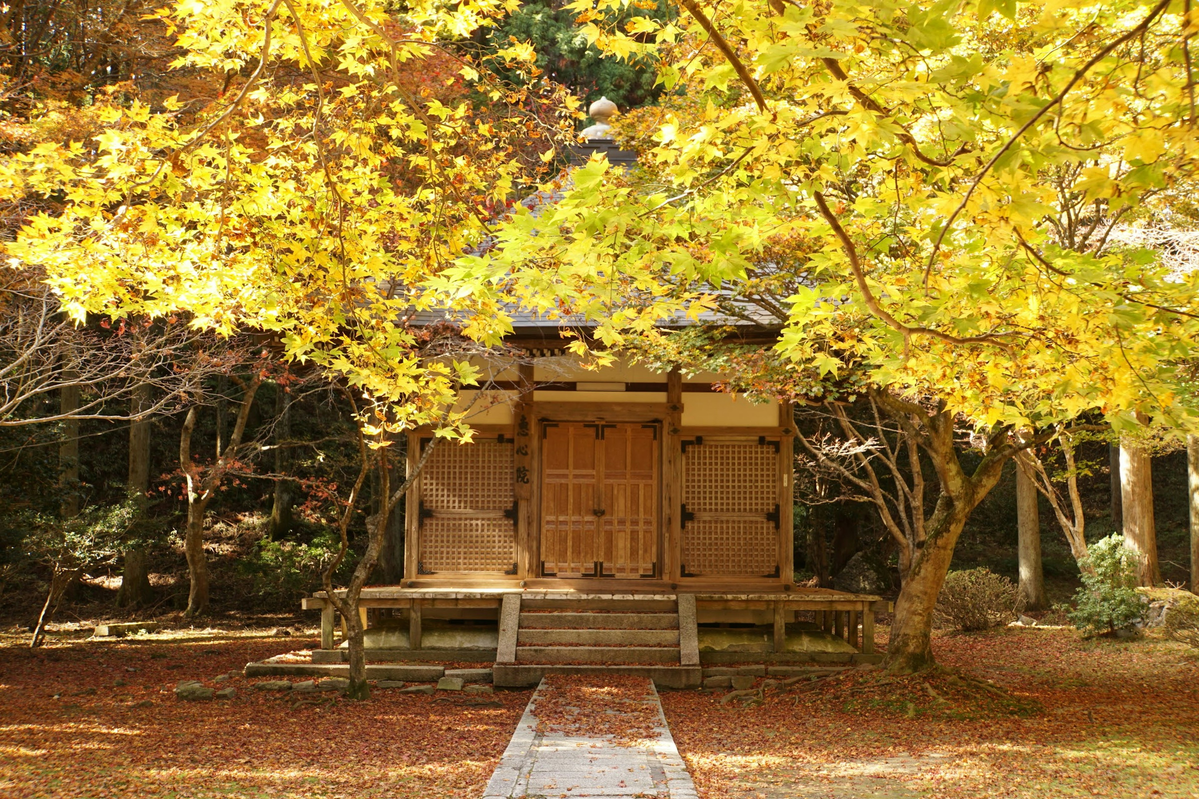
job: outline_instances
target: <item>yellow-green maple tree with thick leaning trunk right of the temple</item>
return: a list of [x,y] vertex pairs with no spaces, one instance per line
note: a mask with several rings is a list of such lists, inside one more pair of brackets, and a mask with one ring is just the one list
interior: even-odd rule
[[[1016,431],[1086,412],[1195,423],[1199,276],[1109,236],[1193,184],[1195,16],[1185,0],[677,5],[623,28],[571,6],[603,52],[655,57],[685,95],[644,111],[646,177],[590,163],[454,274],[484,296],[553,284],[620,346],[760,293],[766,246],[811,242],[776,298],[779,353],[864,374],[936,470],[887,653],[927,667],[954,543],[1025,446]],[[969,468],[956,420],[980,432]]]

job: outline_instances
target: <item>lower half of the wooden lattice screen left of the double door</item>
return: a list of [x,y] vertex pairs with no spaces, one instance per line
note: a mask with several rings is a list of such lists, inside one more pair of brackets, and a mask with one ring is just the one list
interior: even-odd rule
[[517,559],[516,525],[502,516],[426,519],[421,567],[426,571],[508,571]]

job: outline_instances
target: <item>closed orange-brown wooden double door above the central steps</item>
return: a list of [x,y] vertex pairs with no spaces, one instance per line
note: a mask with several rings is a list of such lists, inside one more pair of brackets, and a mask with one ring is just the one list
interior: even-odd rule
[[543,576],[659,576],[659,426],[543,423]]

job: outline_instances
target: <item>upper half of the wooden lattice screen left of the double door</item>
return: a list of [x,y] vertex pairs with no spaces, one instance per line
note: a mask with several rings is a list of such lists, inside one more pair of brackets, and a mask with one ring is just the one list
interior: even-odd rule
[[442,441],[421,473],[426,510],[507,510],[516,498],[512,443]]

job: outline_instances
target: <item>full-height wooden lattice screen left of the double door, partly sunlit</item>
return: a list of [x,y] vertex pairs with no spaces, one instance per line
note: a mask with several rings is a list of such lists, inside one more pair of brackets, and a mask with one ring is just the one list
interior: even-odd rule
[[417,571],[516,574],[512,438],[441,442],[421,473]]

